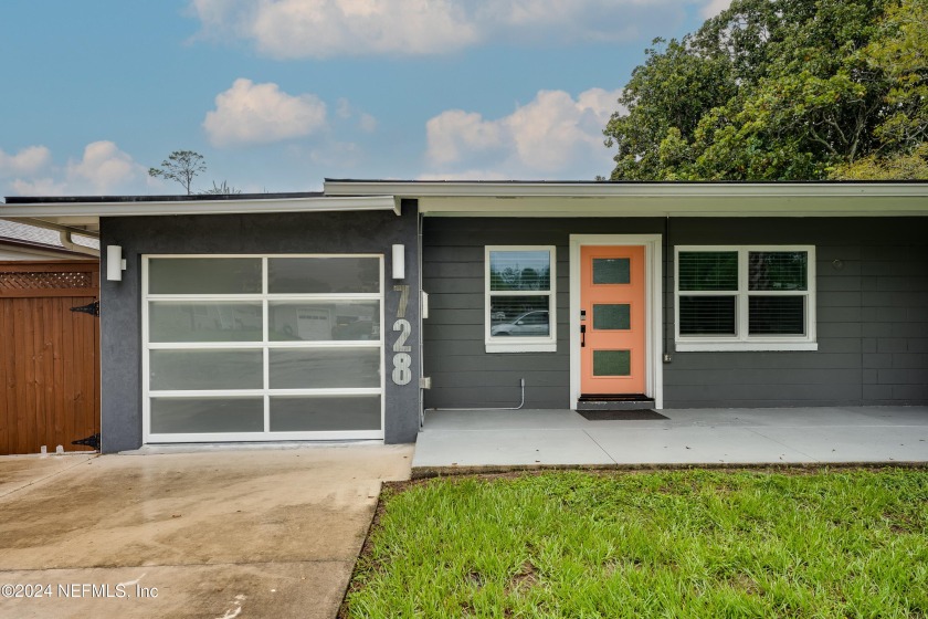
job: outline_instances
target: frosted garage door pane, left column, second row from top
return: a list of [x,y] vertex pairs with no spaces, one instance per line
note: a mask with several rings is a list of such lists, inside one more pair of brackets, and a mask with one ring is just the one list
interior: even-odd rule
[[261,342],[261,302],[152,301],[149,342]]

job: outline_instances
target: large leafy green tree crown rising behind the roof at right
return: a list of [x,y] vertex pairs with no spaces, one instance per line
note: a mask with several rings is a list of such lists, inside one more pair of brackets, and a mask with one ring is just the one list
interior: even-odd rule
[[655,40],[604,130],[612,179],[918,178],[928,0],[895,2],[735,0]]

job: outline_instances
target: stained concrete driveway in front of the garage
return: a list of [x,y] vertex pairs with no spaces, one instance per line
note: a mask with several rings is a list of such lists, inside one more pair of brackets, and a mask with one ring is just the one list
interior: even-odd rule
[[334,617],[380,484],[411,460],[412,445],[0,458],[0,617]]

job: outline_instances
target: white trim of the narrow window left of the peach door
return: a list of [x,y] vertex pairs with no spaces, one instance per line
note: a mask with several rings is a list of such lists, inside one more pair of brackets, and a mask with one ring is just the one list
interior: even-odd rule
[[[550,255],[550,280],[548,291],[497,291],[489,290],[489,252],[505,251],[547,251]],[[556,353],[558,349],[558,316],[557,316],[557,246],[555,245],[486,245],[484,248],[484,344],[487,353]],[[492,296],[548,296],[547,336],[500,337],[492,336],[489,329],[492,321],[489,310]]]

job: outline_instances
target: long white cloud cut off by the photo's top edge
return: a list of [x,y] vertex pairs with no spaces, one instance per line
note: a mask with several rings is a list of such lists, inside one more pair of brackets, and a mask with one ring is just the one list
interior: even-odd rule
[[207,36],[277,59],[637,39],[706,0],[191,0]]

